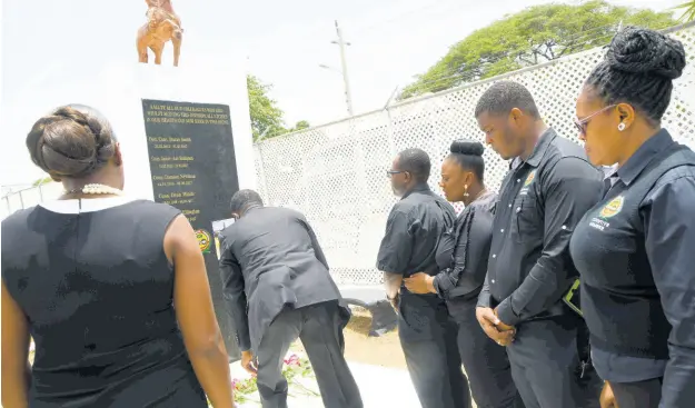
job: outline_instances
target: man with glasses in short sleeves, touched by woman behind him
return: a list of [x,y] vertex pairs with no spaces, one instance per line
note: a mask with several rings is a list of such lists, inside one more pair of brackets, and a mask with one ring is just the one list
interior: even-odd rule
[[377,268],[398,311],[398,335],[410,379],[424,408],[467,408],[470,396],[456,345],[456,325],[435,293],[410,293],[403,278],[437,275],[437,245],[454,225],[454,208],[427,186],[430,161],[420,149],[401,151],[388,175],[400,196],[386,222]]

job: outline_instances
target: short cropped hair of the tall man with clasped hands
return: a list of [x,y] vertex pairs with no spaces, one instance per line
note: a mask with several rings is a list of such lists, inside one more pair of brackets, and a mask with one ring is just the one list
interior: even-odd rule
[[485,112],[507,115],[514,108],[530,115],[534,119],[540,119],[536,101],[526,87],[513,81],[499,81],[489,87],[478,99],[475,116],[477,118]]

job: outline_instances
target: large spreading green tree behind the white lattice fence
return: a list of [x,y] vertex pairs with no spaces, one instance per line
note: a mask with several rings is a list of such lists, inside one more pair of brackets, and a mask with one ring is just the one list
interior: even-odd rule
[[579,6],[545,4],[474,31],[454,44],[398,99],[438,92],[524,67],[606,44],[620,24],[663,29],[674,26],[668,12],[589,1]]

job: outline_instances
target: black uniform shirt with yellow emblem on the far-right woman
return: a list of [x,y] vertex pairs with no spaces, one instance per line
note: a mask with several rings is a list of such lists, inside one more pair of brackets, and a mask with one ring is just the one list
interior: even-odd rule
[[[639,182],[649,176],[647,167],[662,162],[657,157],[674,145],[666,130],[647,140],[617,170],[610,191],[586,213],[570,245],[583,292],[606,291],[625,305],[625,314],[597,310],[597,316],[586,316],[593,342],[612,332],[622,341],[647,341],[629,336],[639,329],[631,325],[647,324],[649,336],[667,342],[659,345],[667,347],[667,364],[593,345],[600,357],[596,369],[616,382],[663,376],[661,407],[686,407],[695,400],[695,160],[666,171],[654,185]],[[645,188],[646,196],[637,197]],[[659,301],[645,309],[639,299]]]

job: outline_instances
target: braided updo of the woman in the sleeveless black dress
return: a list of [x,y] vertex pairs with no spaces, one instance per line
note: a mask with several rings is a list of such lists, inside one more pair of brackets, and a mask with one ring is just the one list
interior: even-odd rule
[[108,120],[93,108],[69,105],[37,120],[27,136],[31,160],[56,177],[83,178],[116,153]]

